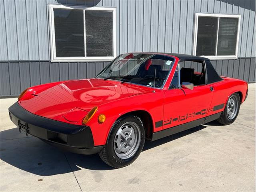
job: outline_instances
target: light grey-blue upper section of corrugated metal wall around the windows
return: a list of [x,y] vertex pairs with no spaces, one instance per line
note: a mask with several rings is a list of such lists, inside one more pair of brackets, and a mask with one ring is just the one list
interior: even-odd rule
[[49,3],[116,7],[117,55],[192,54],[195,12],[241,14],[238,57],[255,57],[255,0],[0,0],[0,60],[50,60]]

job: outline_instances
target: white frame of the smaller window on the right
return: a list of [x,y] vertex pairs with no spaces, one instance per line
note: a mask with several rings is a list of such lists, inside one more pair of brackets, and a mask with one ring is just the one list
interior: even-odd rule
[[196,46],[197,46],[197,32],[198,32],[198,17],[217,17],[218,18],[218,28],[217,28],[217,40],[216,40],[216,50],[215,54],[217,53],[218,48],[218,34],[219,34],[219,22],[220,18],[238,18],[238,25],[237,25],[237,37],[236,37],[236,51],[235,55],[200,55],[209,59],[218,60],[218,59],[237,59],[238,58],[238,43],[239,43],[239,34],[240,34],[240,20],[241,15],[234,15],[234,14],[214,14],[214,13],[195,13],[194,19],[194,39],[193,39],[193,55],[196,55]]

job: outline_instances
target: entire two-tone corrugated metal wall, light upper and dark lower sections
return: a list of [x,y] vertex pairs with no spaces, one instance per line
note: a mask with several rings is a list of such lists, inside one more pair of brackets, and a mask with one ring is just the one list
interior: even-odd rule
[[47,5],[56,3],[116,7],[117,55],[192,54],[195,12],[241,14],[240,59],[218,60],[216,68],[220,74],[255,81],[254,0],[0,0],[0,96],[67,76],[90,77],[102,68],[98,62],[49,62]]

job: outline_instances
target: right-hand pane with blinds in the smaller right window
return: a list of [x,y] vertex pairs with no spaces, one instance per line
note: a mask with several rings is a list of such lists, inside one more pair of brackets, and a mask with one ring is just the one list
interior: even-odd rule
[[235,55],[237,18],[220,18],[217,55]]

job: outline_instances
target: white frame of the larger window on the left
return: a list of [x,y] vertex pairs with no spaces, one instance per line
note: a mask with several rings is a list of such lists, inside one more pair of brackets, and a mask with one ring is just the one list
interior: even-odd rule
[[[87,62],[87,61],[112,61],[116,58],[116,8],[110,7],[88,7],[88,6],[67,6],[61,4],[49,4],[49,29],[50,29],[50,52],[51,62]],[[73,9],[73,10],[100,10],[100,11],[112,11],[113,14],[113,56],[86,56],[86,31],[85,31],[85,19],[84,19],[84,57],[57,57],[56,56],[56,44],[55,44],[55,27],[54,27],[54,8],[59,9]]]

